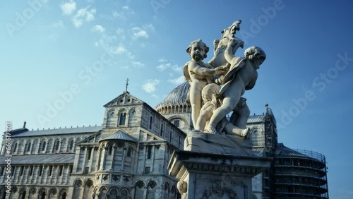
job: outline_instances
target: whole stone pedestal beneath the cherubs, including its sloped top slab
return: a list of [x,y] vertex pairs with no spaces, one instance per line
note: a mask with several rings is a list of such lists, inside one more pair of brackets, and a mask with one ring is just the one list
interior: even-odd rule
[[246,141],[237,140],[235,135],[188,134],[184,150],[175,151],[168,165],[183,199],[251,199],[251,179],[270,167],[272,158],[256,157]]

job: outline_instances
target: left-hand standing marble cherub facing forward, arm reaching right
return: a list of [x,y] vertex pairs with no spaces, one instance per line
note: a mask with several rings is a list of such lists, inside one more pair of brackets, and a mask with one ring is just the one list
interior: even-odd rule
[[184,76],[190,83],[190,103],[191,119],[193,125],[196,125],[198,115],[200,114],[202,98],[201,91],[209,83],[214,82],[214,75],[227,73],[227,67],[213,68],[210,64],[203,63],[207,57],[209,48],[202,40],[191,42],[186,52],[189,53],[191,61],[184,66]]

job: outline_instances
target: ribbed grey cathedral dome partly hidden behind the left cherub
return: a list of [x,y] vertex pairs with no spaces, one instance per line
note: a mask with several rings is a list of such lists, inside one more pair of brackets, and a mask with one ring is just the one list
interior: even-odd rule
[[190,103],[186,102],[186,97],[188,96],[190,85],[188,82],[178,85],[177,88],[174,88],[172,92],[169,92],[167,97],[165,97],[163,102],[157,104],[157,111],[160,114],[168,114],[174,112],[174,108],[178,110],[182,107],[182,111],[178,112],[187,112],[190,111]]

